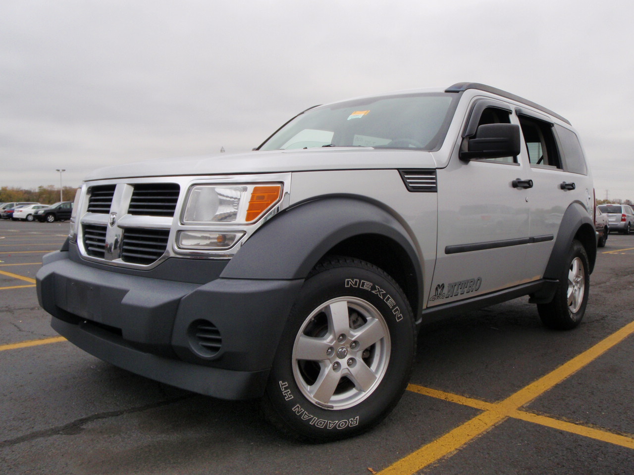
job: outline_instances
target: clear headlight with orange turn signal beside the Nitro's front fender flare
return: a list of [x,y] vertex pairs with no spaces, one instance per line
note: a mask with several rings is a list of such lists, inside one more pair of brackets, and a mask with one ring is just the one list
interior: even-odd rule
[[281,183],[238,186],[196,185],[183,207],[183,224],[250,224],[281,198]]

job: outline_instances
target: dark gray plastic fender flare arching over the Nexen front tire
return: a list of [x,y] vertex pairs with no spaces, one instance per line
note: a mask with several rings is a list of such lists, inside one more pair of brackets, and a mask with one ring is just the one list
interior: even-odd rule
[[305,279],[334,246],[363,234],[379,234],[398,243],[422,288],[420,258],[404,225],[387,210],[350,197],[307,201],[276,215],[231,258],[221,277]]

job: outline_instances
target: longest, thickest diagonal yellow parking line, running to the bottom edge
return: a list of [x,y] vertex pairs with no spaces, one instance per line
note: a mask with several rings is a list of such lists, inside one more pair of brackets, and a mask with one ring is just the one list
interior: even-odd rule
[[[592,346],[547,375],[540,377],[540,379],[510,395],[505,400],[489,405],[488,409],[476,415],[470,421],[398,460],[398,462],[382,470],[380,474],[414,474],[446,455],[451,455],[477,436],[489,431],[496,424],[500,424],[508,417],[517,415],[521,412],[519,409],[522,406],[533,401],[556,384],[561,383],[567,377],[572,376],[579,369],[598,358],[632,333],[634,333],[634,322],[624,326],[619,331],[597,343],[597,345]],[[484,406],[480,409],[484,409]]]

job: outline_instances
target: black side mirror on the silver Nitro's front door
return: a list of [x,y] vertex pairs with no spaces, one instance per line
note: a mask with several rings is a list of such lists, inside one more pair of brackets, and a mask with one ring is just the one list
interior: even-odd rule
[[460,151],[461,160],[517,156],[520,150],[519,125],[484,124],[467,140],[467,150]]

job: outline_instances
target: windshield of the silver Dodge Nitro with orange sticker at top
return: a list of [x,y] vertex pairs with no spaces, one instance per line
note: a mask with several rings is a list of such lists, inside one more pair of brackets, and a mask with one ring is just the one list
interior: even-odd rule
[[316,147],[407,148],[443,144],[458,94],[427,93],[356,99],[301,113],[260,150]]

